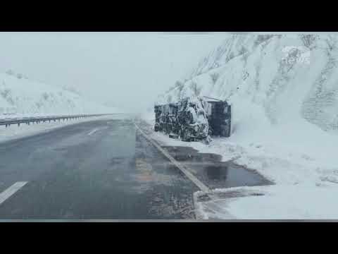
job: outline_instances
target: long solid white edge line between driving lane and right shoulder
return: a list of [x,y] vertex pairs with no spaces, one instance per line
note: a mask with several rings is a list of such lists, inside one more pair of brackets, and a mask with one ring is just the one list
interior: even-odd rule
[[199,181],[199,179],[197,179],[196,176],[194,176],[192,173],[190,173],[184,167],[184,165],[180,164],[180,162],[177,162],[177,160],[174,159],[171,155],[169,155],[169,153],[167,151],[165,151],[160,145],[158,145],[157,143],[155,143],[155,141],[152,138],[150,138],[148,135],[146,135],[146,133],[144,133],[139,128],[139,126],[136,125],[136,123],[134,123],[134,125],[137,128],[137,130],[139,131],[139,133],[141,133],[144,136],[144,138],[146,138],[146,140],[148,140],[158,150],[160,150],[160,152],[162,152],[163,155],[165,155],[165,157],[167,157],[170,160],[170,162],[172,162],[178,169],[180,169],[187,176],[187,178],[190,179],[190,181],[192,181],[193,183],[195,183],[196,186],[201,189],[201,191],[204,191],[206,193],[210,193],[211,192],[211,190],[208,188],[208,186],[206,186],[204,183],[202,183],[201,181]]

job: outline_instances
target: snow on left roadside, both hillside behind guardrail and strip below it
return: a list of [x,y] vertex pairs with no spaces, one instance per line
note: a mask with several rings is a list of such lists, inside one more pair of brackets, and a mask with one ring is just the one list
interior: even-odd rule
[[[15,75],[0,73],[0,120],[36,117],[60,116],[72,114],[109,114],[117,113],[118,109],[105,107],[89,102],[80,95],[44,83],[18,78]],[[26,125],[0,126],[0,142],[34,135],[42,131],[94,118],[70,121],[39,123]]]

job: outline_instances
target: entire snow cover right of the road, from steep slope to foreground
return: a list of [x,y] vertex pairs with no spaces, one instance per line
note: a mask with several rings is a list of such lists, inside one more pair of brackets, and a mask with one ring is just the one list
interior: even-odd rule
[[[262,196],[218,201],[224,214],[338,219],[337,42],[331,35],[232,35],[187,80],[161,95],[159,102],[196,95],[227,99],[231,137],[189,145],[223,160],[238,158],[234,162],[276,183],[253,188]],[[213,210],[207,202],[199,207]]]

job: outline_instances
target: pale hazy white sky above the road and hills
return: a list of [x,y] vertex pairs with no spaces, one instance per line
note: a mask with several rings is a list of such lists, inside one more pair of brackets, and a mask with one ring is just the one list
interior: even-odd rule
[[142,111],[226,34],[0,32],[0,72],[72,86],[84,97]]

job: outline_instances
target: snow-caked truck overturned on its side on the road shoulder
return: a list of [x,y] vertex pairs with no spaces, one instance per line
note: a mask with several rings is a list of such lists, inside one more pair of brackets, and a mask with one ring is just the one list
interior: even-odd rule
[[209,142],[211,135],[230,137],[231,105],[208,99],[185,98],[176,103],[156,105],[155,131],[183,141]]

